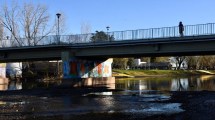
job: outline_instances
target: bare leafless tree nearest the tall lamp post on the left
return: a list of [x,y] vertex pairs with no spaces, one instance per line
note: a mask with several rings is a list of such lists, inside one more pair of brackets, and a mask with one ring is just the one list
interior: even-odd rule
[[47,30],[48,22],[49,15],[46,6],[24,4],[20,13],[20,23],[27,39],[27,45],[37,45],[43,37],[50,34],[51,30]]

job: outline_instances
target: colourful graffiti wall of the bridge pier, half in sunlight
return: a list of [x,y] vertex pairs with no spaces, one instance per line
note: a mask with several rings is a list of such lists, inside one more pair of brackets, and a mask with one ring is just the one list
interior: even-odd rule
[[106,61],[87,61],[72,58],[63,61],[64,78],[111,77],[112,59]]

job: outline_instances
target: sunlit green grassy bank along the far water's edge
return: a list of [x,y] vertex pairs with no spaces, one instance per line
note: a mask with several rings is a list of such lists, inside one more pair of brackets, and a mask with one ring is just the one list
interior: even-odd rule
[[207,70],[118,70],[113,69],[115,77],[141,76],[187,76],[187,75],[215,75],[215,71]]

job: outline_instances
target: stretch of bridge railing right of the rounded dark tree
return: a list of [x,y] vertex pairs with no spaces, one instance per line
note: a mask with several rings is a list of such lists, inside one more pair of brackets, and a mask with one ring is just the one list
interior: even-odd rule
[[[162,27],[139,30],[110,32],[115,40],[152,39],[179,37],[179,27]],[[212,35],[215,34],[215,23],[184,26],[184,36]]]

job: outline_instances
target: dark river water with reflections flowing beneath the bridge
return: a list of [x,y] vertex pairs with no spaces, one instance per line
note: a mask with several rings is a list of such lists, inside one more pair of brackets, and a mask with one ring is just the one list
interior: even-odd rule
[[[82,81],[83,83],[83,81]],[[86,83],[86,81],[84,82]],[[8,95],[0,96],[0,119],[48,119],[57,116],[71,119],[74,115],[125,114],[143,117],[183,112],[180,103],[167,103],[169,91],[214,91],[215,76],[116,78],[114,82],[94,82],[90,87],[106,86],[121,91],[91,92],[80,95]],[[30,90],[58,86],[56,81],[10,81],[2,91]],[[78,83],[80,86],[80,83]],[[76,87],[78,87],[76,85]],[[83,87],[83,85],[81,85]],[[89,85],[88,85],[89,87]],[[72,90],[72,89],[71,89]],[[57,119],[57,117],[55,117]]]

